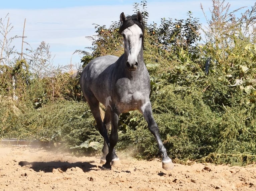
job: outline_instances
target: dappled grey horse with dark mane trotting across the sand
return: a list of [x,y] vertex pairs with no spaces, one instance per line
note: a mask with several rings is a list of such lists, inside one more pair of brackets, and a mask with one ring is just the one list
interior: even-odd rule
[[[111,170],[112,165],[120,162],[114,149],[118,141],[119,116],[132,110],[138,110],[144,116],[149,130],[154,135],[162,156],[162,168],[169,170],[174,167],[152,114],[149,99],[150,78],[143,59],[144,29],[140,12],[127,17],[122,12],[119,34],[124,40],[124,54],[119,58],[112,55],[97,57],[90,61],[81,73],[82,93],[104,138],[102,170]],[[106,106],[103,120],[100,103]],[[110,125],[111,132],[108,136]]]

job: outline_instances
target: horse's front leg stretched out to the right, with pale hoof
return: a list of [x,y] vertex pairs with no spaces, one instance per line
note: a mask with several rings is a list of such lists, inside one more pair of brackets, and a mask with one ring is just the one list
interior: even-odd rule
[[171,159],[169,158],[169,156],[167,155],[166,148],[164,147],[164,145],[161,141],[158,126],[153,118],[150,101],[148,101],[144,105],[142,105],[142,107],[140,108],[140,112],[143,114],[145,120],[147,121],[148,128],[149,128],[150,132],[155,136],[159,152],[162,155],[162,167],[165,170],[172,169],[174,167],[174,165],[173,165]]

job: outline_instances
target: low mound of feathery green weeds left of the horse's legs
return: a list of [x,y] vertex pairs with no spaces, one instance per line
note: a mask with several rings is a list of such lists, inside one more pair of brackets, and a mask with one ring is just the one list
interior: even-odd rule
[[40,109],[34,109],[30,103],[30,107],[20,111],[19,115],[8,115],[1,124],[1,135],[5,138],[36,139],[61,143],[63,147],[80,145],[90,139],[103,142],[84,102],[54,101]]

